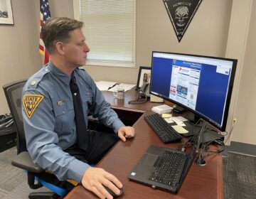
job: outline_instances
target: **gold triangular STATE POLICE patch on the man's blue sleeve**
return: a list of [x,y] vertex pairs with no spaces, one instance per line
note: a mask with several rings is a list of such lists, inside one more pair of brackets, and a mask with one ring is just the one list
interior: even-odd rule
[[31,118],[33,112],[35,112],[38,104],[43,100],[43,95],[27,94],[23,95],[22,104],[28,118]]

